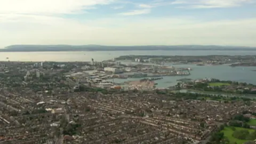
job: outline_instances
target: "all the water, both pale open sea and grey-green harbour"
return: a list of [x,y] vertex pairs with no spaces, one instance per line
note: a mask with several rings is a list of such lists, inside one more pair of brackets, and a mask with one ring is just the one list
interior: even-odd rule
[[[121,55],[256,55],[256,51],[83,51],[83,52],[0,52],[0,61],[94,61],[109,60]],[[166,76],[155,81],[157,87],[168,87],[177,84],[181,78],[218,78],[237,82],[256,84],[256,67],[230,67],[173,65],[174,67],[191,68],[189,76]],[[132,79],[113,79],[121,83]]]

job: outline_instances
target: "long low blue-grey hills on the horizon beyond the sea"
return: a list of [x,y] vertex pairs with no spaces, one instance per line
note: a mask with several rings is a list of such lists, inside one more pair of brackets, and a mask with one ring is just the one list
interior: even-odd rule
[[10,45],[0,52],[45,52],[45,51],[256,51],[256,47],[218,45],[148,45],[148,46],[104,46],[104,45]]

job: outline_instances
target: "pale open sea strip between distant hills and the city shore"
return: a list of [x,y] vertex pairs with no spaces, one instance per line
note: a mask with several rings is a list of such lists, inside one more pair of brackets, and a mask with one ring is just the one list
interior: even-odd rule
[[100,52],[0,52],[0,61],[102,61],[120,55],[256,55],[256,51],[100,51]]

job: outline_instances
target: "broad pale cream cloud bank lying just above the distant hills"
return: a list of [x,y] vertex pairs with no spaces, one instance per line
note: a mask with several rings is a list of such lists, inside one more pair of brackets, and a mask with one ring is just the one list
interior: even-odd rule
[[[109,27],[109,26],[115,27]],[[189,18],[130,17],[76,20],[42,15],[0,15],[0,47],[11,44],[256,46],[256,19],[204,22]]]

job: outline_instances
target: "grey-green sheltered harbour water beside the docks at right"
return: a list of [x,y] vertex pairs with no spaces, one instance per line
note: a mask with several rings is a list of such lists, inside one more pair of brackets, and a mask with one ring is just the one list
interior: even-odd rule
[[[255,74],[256,67],[230,67],[228,65],[221,66],[196,66],[196,65],[174,65],[174,67],[189,67],[189,76],[167,76],[163,79],[155,81],[158,83],[157,87],[167,87],[177,84],[177,80],[181,78],[218,78],[222,80],[238,81],[256,84]],[[132,80],[139,80],[140,78],[133,78]],[[130,79],[129,79],[130,80]],[[114,79],[114,82],[124,82],[126,79]]]

